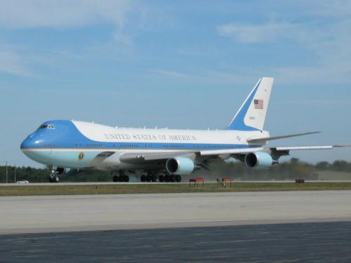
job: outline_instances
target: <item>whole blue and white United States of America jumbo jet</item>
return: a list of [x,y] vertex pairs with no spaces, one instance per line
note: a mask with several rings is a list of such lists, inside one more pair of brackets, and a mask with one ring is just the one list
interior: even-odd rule
[[270,137],[263,130],[274,79],[258,80],[237,114],[223,130],[117,128],[84,121],[46,121],[22,142],[30,159],[52,167],[50,182],[80,170],[110,170],[114,182],[180,182],[182,175],[210,169],[230,158],[249,168],[267,169],[293,150],[317,150],[340,145],[265,147],[267,142],[310,135]]

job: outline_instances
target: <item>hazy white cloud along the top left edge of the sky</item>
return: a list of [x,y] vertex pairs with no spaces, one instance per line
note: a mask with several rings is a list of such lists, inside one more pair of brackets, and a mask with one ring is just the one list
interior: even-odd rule
[[105,21],[121,27],[131,1],[0,1],[0,27],[79,27]]

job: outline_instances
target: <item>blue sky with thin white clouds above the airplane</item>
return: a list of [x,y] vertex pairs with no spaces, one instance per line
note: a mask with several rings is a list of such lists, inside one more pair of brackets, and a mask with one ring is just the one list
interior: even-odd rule
[[1,1],[0,164],[50,119],[223,128],[261,76],[271,135],[324,132],[272,146],[350,144],[350,30],[351,1]]

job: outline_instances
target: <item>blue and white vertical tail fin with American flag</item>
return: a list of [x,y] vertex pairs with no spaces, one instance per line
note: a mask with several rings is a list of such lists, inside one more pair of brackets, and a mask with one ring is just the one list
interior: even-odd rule
[[273,78],[263,77],[256,83],[226,130],[263,130],[273,81]]

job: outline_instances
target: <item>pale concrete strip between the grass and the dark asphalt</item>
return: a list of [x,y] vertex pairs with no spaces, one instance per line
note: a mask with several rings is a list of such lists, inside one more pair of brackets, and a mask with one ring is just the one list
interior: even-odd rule
[[0,197],[0,234],[351,221],[351,191]]

